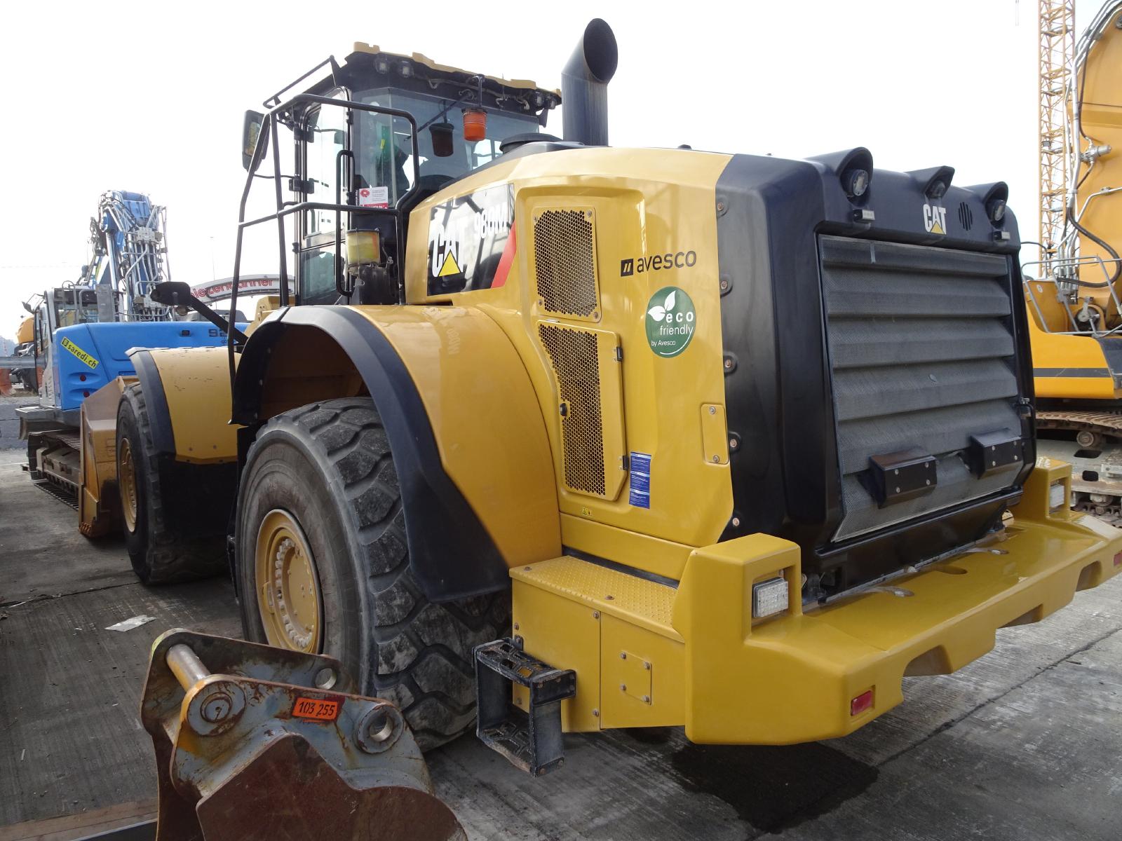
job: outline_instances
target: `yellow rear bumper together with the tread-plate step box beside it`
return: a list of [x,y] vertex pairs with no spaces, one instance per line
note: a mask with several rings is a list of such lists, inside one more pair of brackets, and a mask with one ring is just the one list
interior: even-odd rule
[[[1051,510],[1057,482],[1065,499]],[[577,673],[567,730],[684,726],[696,742],[761,745],[845,736],[899,704],[905,675],[960,668],[999,628],[1043,619],[1122,571],[1122,529],[1069,511],[1069,488],[1067,464],[1040,460],[993,543],[806,612],[799,547],[769,535],[696,549],[677,589],[572,556],[515,567],[514,631],[528,654]],[[753,621],[753,584],[776,575],[787,611]],[[865,693],[872,703],[855,711]]]

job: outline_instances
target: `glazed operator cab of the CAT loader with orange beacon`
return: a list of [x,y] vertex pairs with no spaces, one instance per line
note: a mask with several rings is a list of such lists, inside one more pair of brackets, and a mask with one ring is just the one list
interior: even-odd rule
[[[324,66],[325,78],[291,98],[291,108],[282,104],[288,90]],[[289,205],[303,205],[288,228],[295,233],[296,303],[403,301],[410,211],[496,159],[504,141],[537,136],[560,102],[559,92],[530,81],[484,76],[366,44],[356,44],[341,65],[329,58],[267,100],[277,122],[292,130],[295,175],[265,177],[294,194]],[[246,114],[247,168],[258,132],[269,131],[268,119]],[[277,158],[265,160],[263,175]]]

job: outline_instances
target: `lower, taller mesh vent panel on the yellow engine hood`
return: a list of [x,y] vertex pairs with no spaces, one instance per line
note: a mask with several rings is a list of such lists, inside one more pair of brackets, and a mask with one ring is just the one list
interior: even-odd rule
[[565,406],[561,417],[564,483],[572,490],[606,496],[596,333],[555,324],[539,324],[537,332]]

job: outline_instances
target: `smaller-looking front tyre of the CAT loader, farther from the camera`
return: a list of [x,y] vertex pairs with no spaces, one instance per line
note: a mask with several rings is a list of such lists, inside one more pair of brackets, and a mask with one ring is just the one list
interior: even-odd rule
[[[126,455],[128,460],[122,463]],[[171,500],[165,495],[139,383],[128,386],[121,394],[117,408],[117,456],[125,544],[137,577],[146,584],[174,584],[223,572],[227,564],[221,535],[183,534],[184,529],[169,521]],[[193,503],[191,499],[175,501],[181,506]]]

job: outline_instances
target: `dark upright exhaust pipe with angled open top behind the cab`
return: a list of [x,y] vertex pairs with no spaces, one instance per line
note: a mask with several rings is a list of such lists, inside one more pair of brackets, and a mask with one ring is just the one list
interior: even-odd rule
[[616,36],[595,18],[561,71],[564,139],[586,146],[608,145],[608,82],[616,74]]

